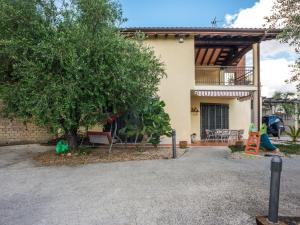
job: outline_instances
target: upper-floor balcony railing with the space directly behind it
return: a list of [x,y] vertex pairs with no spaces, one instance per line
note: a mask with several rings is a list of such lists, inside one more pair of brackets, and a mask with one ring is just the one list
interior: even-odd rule
[[253,67],[196,66],[196,86],[253,86]]

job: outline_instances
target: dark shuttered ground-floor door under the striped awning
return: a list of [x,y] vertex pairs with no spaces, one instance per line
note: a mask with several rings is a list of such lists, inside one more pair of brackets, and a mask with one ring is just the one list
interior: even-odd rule
[[206,129],[229,129],[229,105],[201,103],[200,128],[201,139],[206,137]]

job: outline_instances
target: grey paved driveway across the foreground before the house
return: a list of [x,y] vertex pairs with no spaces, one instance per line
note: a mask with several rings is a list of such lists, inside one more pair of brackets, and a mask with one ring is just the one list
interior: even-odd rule
[[[0,148],[1,225],[248,225],[267,213],[270,159],[228,159],[225,147],[73,168],[13,149]],[[280,214],[300,215],[300,157],[284,160]]]

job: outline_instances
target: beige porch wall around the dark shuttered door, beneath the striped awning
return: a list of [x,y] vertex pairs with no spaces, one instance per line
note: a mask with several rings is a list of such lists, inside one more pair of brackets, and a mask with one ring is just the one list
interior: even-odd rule
[[[248,128],[251,122],[251,101],[238,101],[236,98],[226,97],[191,97],[192,107],[200,109],[200,103],[219,103],[229,105],[229,129],[244,129],[244,138],[248,137]],[[201,113],[191,113],[192,133],[200,137]]]

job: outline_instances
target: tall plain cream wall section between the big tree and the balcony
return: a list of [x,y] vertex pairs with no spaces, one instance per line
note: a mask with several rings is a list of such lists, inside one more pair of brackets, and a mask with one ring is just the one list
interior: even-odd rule
[[[190,141],[190,91],[195,82],[194,39],[185,39],[184,43],[175,38],[148,39],[145,43],[153,47],[165,64],[167,77],[161,81],[158,95],[166,103],[177,141]],[[164,139],[162,143],[170,143],[170,139]]]

